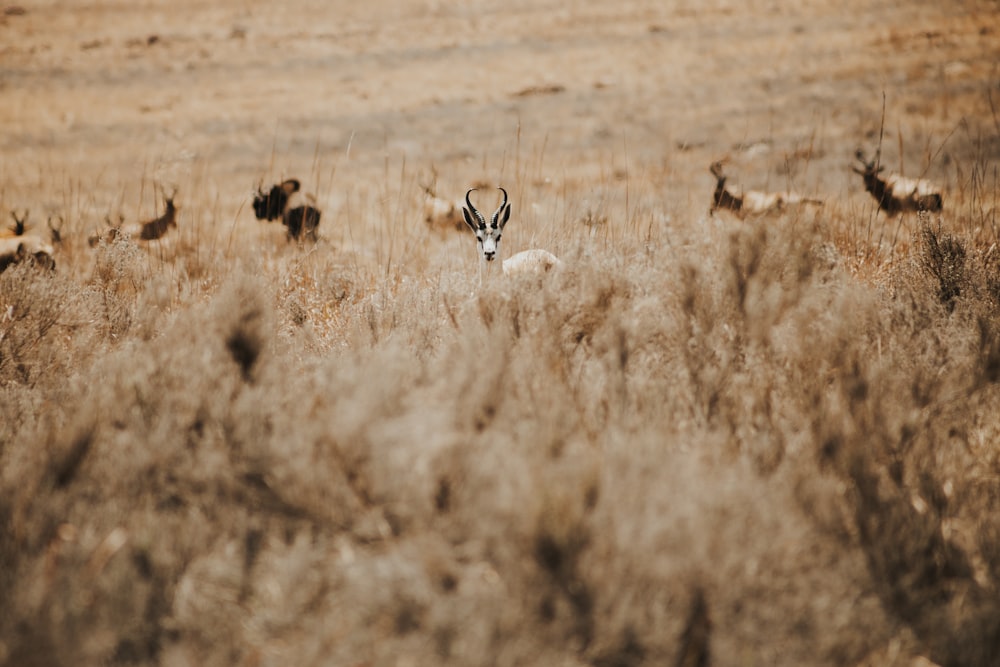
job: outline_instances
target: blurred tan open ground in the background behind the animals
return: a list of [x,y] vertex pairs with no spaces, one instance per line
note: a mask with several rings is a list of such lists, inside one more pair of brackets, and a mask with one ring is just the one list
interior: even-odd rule
[[0,23],[0,198],[61,212],[66,188],[27,194],[82,184],[85,226],[122,201],[150,212],[150,181],[242,221],[252,185],[295,175],[337,234],[351,193],[401,169],[429,180],[434,165],[460,196],[529,158],[576,198],[627,171],[700,205],[728,155],[746,187],[863,200],[848,166],[874,150],[883,94],[891,167],[949,184],[953,160],[1000,154],[994,2],[23,9]]

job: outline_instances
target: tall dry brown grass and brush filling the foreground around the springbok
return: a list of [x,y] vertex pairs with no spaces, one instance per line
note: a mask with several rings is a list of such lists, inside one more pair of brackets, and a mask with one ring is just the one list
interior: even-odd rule
[[741,224],[531,164],[544,278],[405,167],[0,275],[0,662],[996,664],[995,171]]

